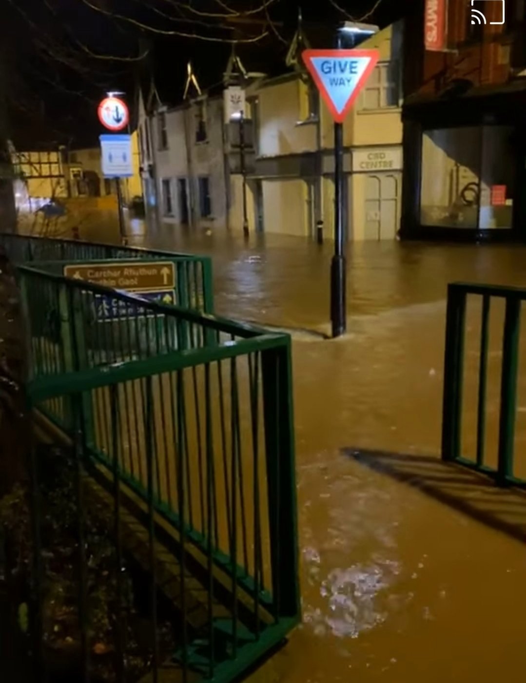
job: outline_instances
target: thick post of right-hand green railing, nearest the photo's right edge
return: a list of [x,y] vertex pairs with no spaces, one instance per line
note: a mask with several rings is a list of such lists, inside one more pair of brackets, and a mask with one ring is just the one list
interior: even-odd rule
[[521,327],[521,300],[506,299],[502,340],[501,411],[499,417],[499,463],[497,479],[506,484],[513,475],[515,415],[517,406],[518,339]]

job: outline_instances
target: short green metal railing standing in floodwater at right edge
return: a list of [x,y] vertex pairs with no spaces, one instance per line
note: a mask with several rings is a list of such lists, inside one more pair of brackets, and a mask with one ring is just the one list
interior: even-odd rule
[[[476,408],[476,455],[463,456],[463,387],[465,383],[466,310],[468,296],[480,300],[480,340],[478,344],[478,382]],[[443,389],[442,458],[476,469],[495,479],[501,486],[526,486],[526,479],[516,476],[515,428],[519,378],[519,343],[521,302],[526,290],[495,285],[453,283],[448,286],[448,309],[445,330]],[[497,464],[487,462],[486,423],[488,395],[488,344],[491,304],[505,305],[501,334],[501,369]]]

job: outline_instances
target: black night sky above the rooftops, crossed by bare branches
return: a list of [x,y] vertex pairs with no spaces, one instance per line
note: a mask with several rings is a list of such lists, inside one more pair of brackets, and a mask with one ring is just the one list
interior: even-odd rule
[[[261,0],[227,3],[235,10],[250,10]],[[250,14],[252,23],[247,23],[247,16],[242,22],[207,16],[224,14],[220,0],[0,0],[0,96],[8,101],[10,137],[19,149],[50,143],[95,145],[101,132],[96,107],[107,90],[126,92],[134,109],[138,83],[147,83],[154,74],[160,94],[175,104],[182,96],[188,59],[201,87],[220,83],[231,51],[227,38],[240,41],[237,53],[248,70],[278,73],[284,70],[298,5],[308,35],[316,40],[318,33],[325,42],[346,18],[336,5],[357,19],[374,10],[364,20],[383,27],[419,4],[274,0],[266,11]],[[162,35],[148,27],[219,40]],[[269,33],[263,40],[241,42],[263,31]]]

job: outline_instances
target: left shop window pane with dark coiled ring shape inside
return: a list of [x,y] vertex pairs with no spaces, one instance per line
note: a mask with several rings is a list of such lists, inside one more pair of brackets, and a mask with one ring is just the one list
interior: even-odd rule
[[422,135],[422,225],[478,226],[481,130],[426,130]]

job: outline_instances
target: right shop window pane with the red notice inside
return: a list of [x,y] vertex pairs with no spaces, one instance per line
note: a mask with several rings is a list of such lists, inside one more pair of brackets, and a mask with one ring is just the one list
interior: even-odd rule
[[480,228],[512,227],[514,197],[513,128],[484,126],[482,129],[482,182]]

